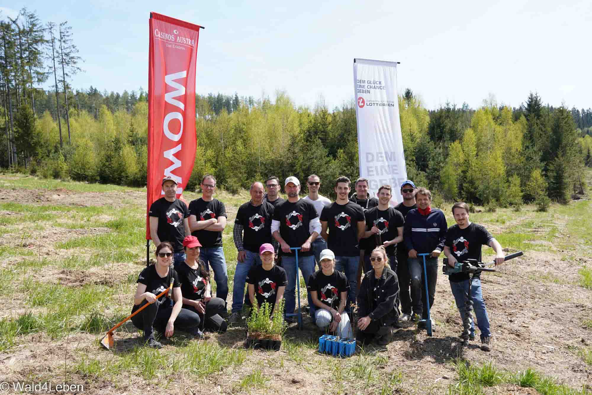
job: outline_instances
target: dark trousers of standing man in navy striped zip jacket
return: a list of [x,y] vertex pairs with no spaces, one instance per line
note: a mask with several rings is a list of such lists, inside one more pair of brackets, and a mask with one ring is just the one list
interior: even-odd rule
[[[426,281],[423,278],[423,258],[408,258],[409,274],[411,276],[411,301],[413,314],[422,312],[422,319],[427,319]],[[426,257],[427,290],[430,294],[430,309],[434,305],[436,281],[438,279],[438,259]]]

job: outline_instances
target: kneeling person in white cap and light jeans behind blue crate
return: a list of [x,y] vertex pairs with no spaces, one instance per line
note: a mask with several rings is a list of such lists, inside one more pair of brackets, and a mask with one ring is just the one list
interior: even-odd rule
[[321,251],[319,259],[321,270],[310,276],[307,285],[313,303],[318,307],[314,313],[316,324],[320,329],[328,328],[329,332],[342,339],[353,339],[348,313],[343,311],[348,299],[348,279],[335,270],[333,251]]

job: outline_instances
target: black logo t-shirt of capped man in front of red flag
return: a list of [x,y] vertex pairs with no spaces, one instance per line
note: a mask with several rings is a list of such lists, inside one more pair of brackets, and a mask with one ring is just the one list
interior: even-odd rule
[[179,199],[169,202],[160,198],[150,205],[150,216],[158,218],[156,234],[160,241],[168,241],[173,245],[173,252],[183,252],[185,238],[185,218],[189,218],[187,205]]

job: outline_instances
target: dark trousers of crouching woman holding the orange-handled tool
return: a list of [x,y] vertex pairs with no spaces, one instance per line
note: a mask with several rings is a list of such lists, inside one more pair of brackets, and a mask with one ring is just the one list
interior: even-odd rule
[[[147,301],[144,300],[140,305],[134,305],[131,310],[132,313],[146,303]],[[155,329],[162,333],[165,332],[166,324],[168,323],[172,312],[173,307],[168,299],[162,303],[156,301],[144,308],[144,310],[140,311],[136,316],[131,317],[131,322],[133,322],[134,326],[138,329],[144,331],[144,337],[150,337],[154,335]],[[194,333],[194,331],[197,330],[199,323],[200,316],[197,313],[182,308],[175,320],[175,329]]]

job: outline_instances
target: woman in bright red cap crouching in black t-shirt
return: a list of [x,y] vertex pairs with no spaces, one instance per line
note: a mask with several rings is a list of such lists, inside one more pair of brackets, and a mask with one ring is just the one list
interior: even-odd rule
[[[185,262],[175,265],[181,282],[183,308],[198,314],[198,325],[201,330],[224,333],[226,321],[220,316],[225,309],[224,300],[211,297],[210,272],[200,259],[201,243],[195,236],[187,236],[183,240]],[[201,335],[201,331],[200,332]]]

